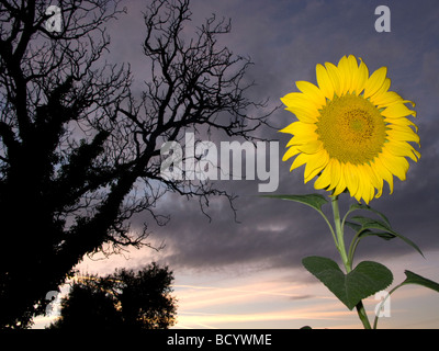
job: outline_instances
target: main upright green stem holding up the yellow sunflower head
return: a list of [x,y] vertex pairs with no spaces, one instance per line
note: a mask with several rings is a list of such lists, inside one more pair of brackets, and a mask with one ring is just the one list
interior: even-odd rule
[[[340,252],[340,257],[344,262],[346,272],[349,273],[352,270],[352,258],[348,257],[348,254],[346,253],[344,228],[341,226],[340,211],[338,207],[338,195],[333,196],[330,204],[333,206],[334,224],[335,224],[335,228],[336,228],[336,237],[337,237],[336,246],[337,246],[338,252]],[[345,219],[346,219],[346,217],[344,218],[344,223],[345,223]],[[357,304],[356,308],[357,308],[358,316],[364,326],[364,329],[372,329],[371,325],[369,322],[369,318],[365,313],[363,303],[361,301]]]

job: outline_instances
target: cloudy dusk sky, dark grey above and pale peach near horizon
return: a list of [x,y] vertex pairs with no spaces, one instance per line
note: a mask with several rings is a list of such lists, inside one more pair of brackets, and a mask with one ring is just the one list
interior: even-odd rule
[[[379,33],[374,12],[383,4],[391,10],[391,32]],[[145,1],[126,1],[124,5],[127,14],[108,25],[110,57],[130,61],[142,87],[148,71],[142,54]],[[403,241],[371,238],[360,245],[356,262],[385,264],[394,273],[393,286],[405,279],[406,269],[439,281],[438,1],[192,0],[190,9],[193,15],[188,35],[191,25],[202,24],[212,13],[232,19],[232,32],[218,44],[236,55],[251,57],[254,65],[247,79],[256,84],[247,93],[255,101],[269,99],[268,110],[280,105],[281,97],[297,91],[295,81],[316,83],[317,64],[337,64],[344,55],[352,54],[364,60],[370,72],[382,66],[389,68],[391,90],[416,102],[421,159],[409,161],[407,180],[395,179],[392,195],[385,188],[383,196],[371,205],[386,214],[396,231],[414,240],[425,258]],[[283,109],[270,116],[270,123],[279,129],[294,121]],[[263,127],[259,133],[279,141],[281,158],[289,136]],[[290,165],[279,161],[275,193],[318,192],[314,182],[303,183],[303,168],[290,172]],[[223,189],[237,195],[236,220],[223,199],[211,199],[209,218],[196,200],[169,194],[157,210],[169,214],[170,222],[165,227],[150,224],[151,244],[165,244],[164,249],[85,258],[78,269],[106,274],[115,268],[137,269],[151,261],[167,264],[176,278],[175,328],[360,328],[356,313],[301,264],[306,256],[340,262],[322,217],[296,203],[260,197],[258,184],[258,179],[221,182]],[[345,197],[341,211],[351,203]],[[142,226],[146,219],[150,219],[146,214],[134,217],[132,227]],[[374,297],[364,302],[370,319],[379,303]],[[390,312],[379,327],[436,329],[439,295],[424,287],[403,287],[392,295]],[[42,327],[47,319],[35,321]]]

